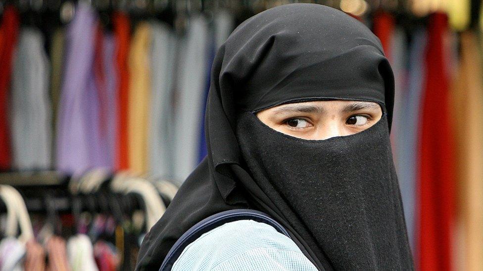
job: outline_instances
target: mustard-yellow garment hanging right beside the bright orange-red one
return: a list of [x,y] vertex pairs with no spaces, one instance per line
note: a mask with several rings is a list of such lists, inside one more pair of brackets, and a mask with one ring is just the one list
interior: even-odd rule
[[151,101],[151,29],[142,22],[136,27],[129,52],[128,139],[129,168],[136,173],[149,169],[149,110]]

